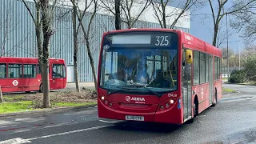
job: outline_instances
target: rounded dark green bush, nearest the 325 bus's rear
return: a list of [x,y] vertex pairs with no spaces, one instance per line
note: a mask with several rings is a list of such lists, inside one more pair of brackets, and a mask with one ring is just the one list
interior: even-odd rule
[[246,72],[244,70],[233,70],[230,74],[229,82],[231,83],[246,82]]

